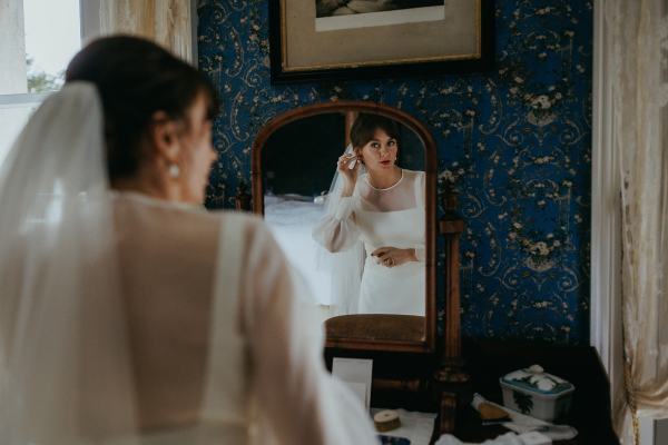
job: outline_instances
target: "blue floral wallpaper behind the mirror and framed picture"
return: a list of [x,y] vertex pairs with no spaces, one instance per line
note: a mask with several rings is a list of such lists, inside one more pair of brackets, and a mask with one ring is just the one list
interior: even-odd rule
[[267,3],[198,6],[199,66],[223,103],[207,205],[229,207],[249,184],[253,139],[277,113],[338,99],[400,108],[432,131],[439,179],[460,192],[463,334],[587,344],[592,1],[497,0],[491,72],[281,87]]

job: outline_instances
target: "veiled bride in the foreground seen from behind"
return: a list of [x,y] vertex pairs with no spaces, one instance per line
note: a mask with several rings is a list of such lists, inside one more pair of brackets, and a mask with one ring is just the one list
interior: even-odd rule
[[202,206],[204,75],[81,50],[0,169],[0,443],[375,444],[265,225]]

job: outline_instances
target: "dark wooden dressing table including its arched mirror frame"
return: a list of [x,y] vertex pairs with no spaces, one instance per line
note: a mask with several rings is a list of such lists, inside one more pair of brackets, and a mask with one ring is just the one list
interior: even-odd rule
[[[320,168],[322,170],[316,171],[316,176],[331,180],[335,160],[343,152],[343,147],[350,144],[350,129],[360,112],[382,115],[399,122],[402,127],[400,149],[403,147],[409,151],[400,161],[413,162],[418,166],[414,169],[425,172],[426,309],[424,316],[327,314],[324,316],[327,367],[332,369],[334,357],[373,359],[372,408],[435,413],[433,443],[445,433],[472,442],[482,442],[504,433],[499,426],[482,426],[480,417],[470,407],[473,393],[482,393],[490,400],[500,403],[499,377],[509,370],[540,363],[556,375],[573,382],[576,388],[581,388],[577,389],[574,398],[579,405],[567,419],[578,428],[580,435],[564,443],[616,443],[610,423],[609,385],[592,348],[515,345],[493,340],[466,340],[462,348],[459,239],[464,221],[458,217],[456,197],[450,190],[441,192],[444,212],[436,218],[436,147],[424,125],[411,115],[379,103],[338,101],[302,107],[276,116],[258,132],[253,144],[253,211],[264,215],[269,226],[272,221],[278,221],[281,226],[285,221],[274,218],[271,215],[274,210],[267,206],[276,200],[297,199],[298,204],[317,201],[317,187],[322,189],[324,186],[310,186],[315,192],[305,192],[304,184],[316,184],[318,178],[308,178],[303,172]],[[326,127],[323,127],[323,122]],[[323,139],[332,140],[328,144],[330,151]],[[304,159],[305,152],[312,156]],[[291,161],[281,162],[281,159]],[[291,168],[296,170],[291,171]],[[293,180],[285,188],[285,184],[291,181],[283,184],[282,178],[298,178],[304,184]],[[293,189],[302,195],[294,194]],[[304,194],[312,194],[315,199],[304,199]],[[239,208],[248,209],[245,191],[238,198]],[[307,227],[299,227],[299,231],[310,234]],[[304,239],[308,238],[308,234]],[[441,270],[435,267],[438,237],[442,237],[445,251]],[[291,248],[289,244],[284,246],[288,258]],[[292,254],[298,254],[293,256],[296,260],[302,255],[294,249]],[[436,336],[436,273],[443,274],[444,283],[441,290],[444,300],[441,337]],[[314,286],[327,287],[321,281],[314,283]],[[572,357],[576,360],[569,359]]]

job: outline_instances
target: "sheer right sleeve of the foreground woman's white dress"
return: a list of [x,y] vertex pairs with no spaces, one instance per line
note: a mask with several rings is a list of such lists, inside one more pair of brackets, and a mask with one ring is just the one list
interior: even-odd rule
[[248,236],[242,317],[261,415],[281,444],[377,444],[369,414],[324,367],[307,287],[263,224]]

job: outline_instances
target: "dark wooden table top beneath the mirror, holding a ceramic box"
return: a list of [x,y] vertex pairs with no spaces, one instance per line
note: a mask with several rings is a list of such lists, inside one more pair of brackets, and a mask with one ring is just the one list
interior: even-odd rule
[[[367,354],[347,352],[344,356],[369,358]],[[508,429],[501,425],[482,425],[478,413],[470,406],[473,394],[479,393],[488,400],[502,404],[499,378],[539,364],[547,373],[564,378],[576,387],[570,412],[560,423],[573,426],[579,434],[571,441],[554,444],[619,444],[612,429],[608,377],[591,346],[464,338],[462,358],[464,370],[471,377],[464,384],[435,382],[433,356],[373,354],[372,406],[439,413],[442,411],[442,394],[453,393],[456,395],[453,433],[461,441],[480,443],[507,433]],[[330,364],[332,356],[338,356],[338,352],[328,352]],[[440,421],[436,421],[432,441],[440,436]]]

